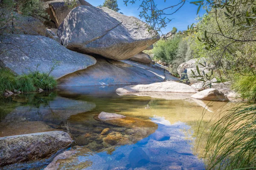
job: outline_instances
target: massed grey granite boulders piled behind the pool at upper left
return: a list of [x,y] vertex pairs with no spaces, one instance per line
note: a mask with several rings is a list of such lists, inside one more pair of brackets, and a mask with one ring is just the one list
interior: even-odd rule
[[15,18],[7,23],[12,29],[6,27],[0,35],[1,67],[17,75],[54,67],[50,75],[59,86],[178,80],[142,53],[159,37],[149,34],[145,23],[136,17],[94,7],[84,0],[77,0],[74,8],[64,0],[44,0],[44,11],[49,18],[13,13]]

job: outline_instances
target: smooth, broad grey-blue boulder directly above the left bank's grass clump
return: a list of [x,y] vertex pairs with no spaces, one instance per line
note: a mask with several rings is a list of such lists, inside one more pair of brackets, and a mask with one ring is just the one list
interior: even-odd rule
[[96,63],[93,57],[70,51],[48,37],[12,34],[1,38],[0,62],[16,74],[49,72],[55,66],[50,75],[59,79]]

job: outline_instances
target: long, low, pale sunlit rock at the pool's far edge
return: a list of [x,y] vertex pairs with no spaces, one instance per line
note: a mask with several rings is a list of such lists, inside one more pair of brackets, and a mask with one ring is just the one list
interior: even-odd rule
[[134,92],[175,92],[175,93],[197,93],[195,88],[189,85],[167,81],[156,82],[149,85],[130,85],[116,89],[117,93],[134,93]]

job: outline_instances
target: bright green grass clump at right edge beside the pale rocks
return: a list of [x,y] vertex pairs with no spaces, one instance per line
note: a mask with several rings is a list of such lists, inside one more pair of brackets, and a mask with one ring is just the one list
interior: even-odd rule
[[236,75],[232,87],[241,94],[241,97],[250,102],[256,101],[256,75]]

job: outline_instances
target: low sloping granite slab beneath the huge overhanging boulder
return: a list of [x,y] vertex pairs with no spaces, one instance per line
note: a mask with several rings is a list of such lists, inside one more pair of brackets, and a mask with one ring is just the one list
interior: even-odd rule
[[[163,70],[138,62],[110,61],[96,56],[95,58],[96,65],[58,79],[58,86],[135,85],[163,82],[166,79]],[[168,78],[177,81],[177,78],[171,75]]]

